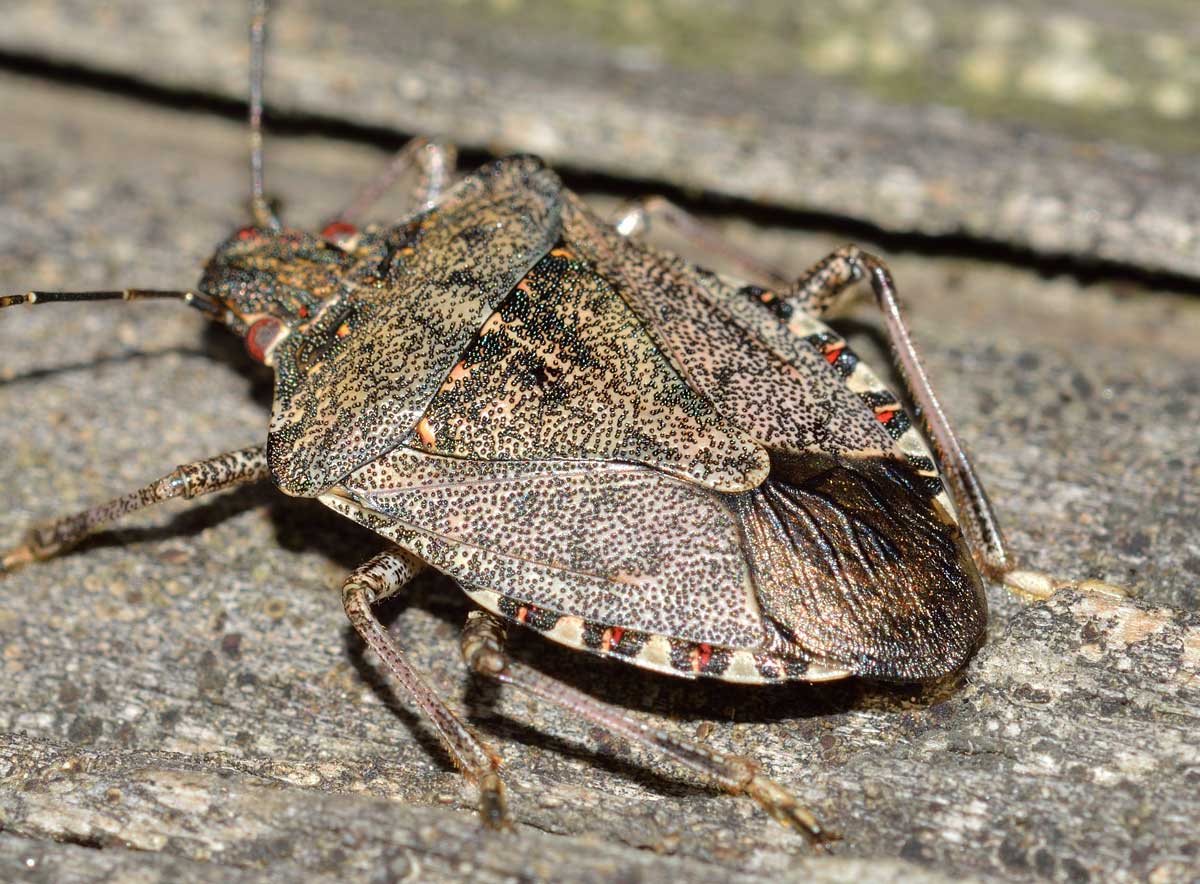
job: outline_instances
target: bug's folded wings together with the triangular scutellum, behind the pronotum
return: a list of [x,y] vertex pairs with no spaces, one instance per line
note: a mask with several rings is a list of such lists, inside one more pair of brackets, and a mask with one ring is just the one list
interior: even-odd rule
[[863,397],[720,278],[565,191],[557,209],[560,237],[439,354],[402,444],[322,500],[467,587],[589,624],[826,672],[956,668],[979,578]]

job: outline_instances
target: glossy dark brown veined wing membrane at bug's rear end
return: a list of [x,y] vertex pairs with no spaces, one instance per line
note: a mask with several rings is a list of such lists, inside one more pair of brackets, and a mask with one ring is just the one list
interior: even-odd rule
[[857,675],[929,679],[983,637],[986,601],[961,533],[892,458],[773,457],[736,495],[763,613]]

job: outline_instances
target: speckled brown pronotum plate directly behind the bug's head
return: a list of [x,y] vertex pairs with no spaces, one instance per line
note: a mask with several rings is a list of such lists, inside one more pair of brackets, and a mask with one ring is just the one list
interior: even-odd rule
[[362,317],[304,377],[284,341],[268,455],[280,486],[312,495],[395,447],[480,325],[557,241],[562,184],[540,161],[499,161],[416,218]]

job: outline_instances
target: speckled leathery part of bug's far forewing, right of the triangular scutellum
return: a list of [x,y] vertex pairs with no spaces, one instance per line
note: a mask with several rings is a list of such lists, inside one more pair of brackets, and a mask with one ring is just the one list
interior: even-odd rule
[[563,236],[613,281],[692,389],[767,447],[893,450],[871,409],[816,349],[715,273],[622,237],[570,193]]

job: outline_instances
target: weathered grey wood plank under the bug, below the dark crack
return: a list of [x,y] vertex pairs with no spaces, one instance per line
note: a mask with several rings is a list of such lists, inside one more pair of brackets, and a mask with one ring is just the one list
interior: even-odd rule
[[[0,107],[0,290],[191,285],[244,221],[234,122],[12,77]],[[313,225],[380,156],[287,138],[271,160],[288,217]],[[719,221],[796,271],[836,245]],[[736,690],[515,643],[676,733],[710,724],[710,745],[758,758],[844,834],[833,855],[468,679],[468,603],[428,579],[389,615],[505,758],[517,831],[481,834],[472,792],[340,611],[341,578],[379,542],[257,488],[164,506],[0,579],[0,878],[1193,879],[1200,305],[889,258],[1014,547],[1138,597],[994,590],[988,645],[960,681],[923,691]],[[181,308],[0,320],[0,543],[263,437],[269,377]],[[870,353],[870,309],[846,327]]]

